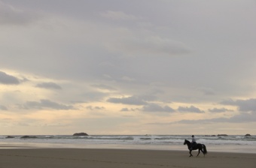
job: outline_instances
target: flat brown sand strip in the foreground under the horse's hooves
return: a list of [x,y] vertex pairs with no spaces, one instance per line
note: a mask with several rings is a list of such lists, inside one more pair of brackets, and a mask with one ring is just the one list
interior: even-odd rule
[[92,148],[0,148],[0,168],[255,168],[256,154]]

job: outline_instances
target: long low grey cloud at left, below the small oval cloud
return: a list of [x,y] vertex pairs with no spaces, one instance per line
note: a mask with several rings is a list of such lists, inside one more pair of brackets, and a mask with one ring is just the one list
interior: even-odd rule
[[46,99],[42,99],[38,101],[27,101],[26,104],[23,105],[25,109],[54,109],[54,110],[73,110],[75,109],[72,106],[67,106],[65,104],[58,104],[53,101],[49,101]]

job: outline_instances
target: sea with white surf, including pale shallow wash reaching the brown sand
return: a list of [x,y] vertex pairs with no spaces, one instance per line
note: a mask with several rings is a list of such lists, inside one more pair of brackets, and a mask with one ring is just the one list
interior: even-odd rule
[[[0,148],[129,148],[187,150],[184,139],[190,135],[33,135],[0,136]],[[195,135],[208,151],[256,153],[256,136]]]

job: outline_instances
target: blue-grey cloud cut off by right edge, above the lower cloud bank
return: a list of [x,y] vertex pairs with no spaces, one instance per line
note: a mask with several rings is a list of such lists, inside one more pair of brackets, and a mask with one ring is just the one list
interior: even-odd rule
[[236,106],[239,108],[239,111],[241,112],[256,112],[256,99],[251,98],[247,100],[236,100],[233,101],[232,99],[227,101],[222,101],[221,104],[224,105],[231,105]]

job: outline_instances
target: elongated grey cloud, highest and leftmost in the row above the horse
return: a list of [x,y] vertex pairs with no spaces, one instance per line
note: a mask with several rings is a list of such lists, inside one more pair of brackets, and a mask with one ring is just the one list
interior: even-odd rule
[[129,105],[145,105],[145,104],[148,104],[143,99],[135,97],[135,96],[128,97],[128,98],[109,98],[107,101],[110,102],[110,103],[113,103],[113,104],[129,104]]

